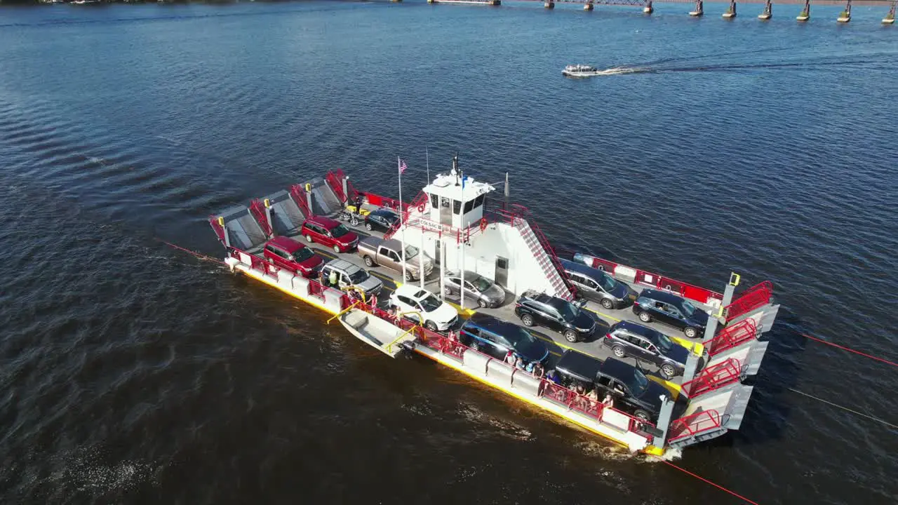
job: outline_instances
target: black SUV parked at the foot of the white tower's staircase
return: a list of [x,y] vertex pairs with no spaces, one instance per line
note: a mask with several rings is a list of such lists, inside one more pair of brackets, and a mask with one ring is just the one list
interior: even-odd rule
[[524,326],[540,324],[562,335],[566,341],[583,341],[595,332],[593,316],[568,300],[545,293],[526,291],[515,303],[515,314]]

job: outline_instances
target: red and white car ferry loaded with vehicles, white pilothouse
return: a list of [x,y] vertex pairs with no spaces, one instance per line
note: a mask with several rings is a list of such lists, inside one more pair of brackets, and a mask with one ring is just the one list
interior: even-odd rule
[[[329,313],[366,345],[433,359],[630,451],[658,456],[740,427],[753,392],[743,381],[779,308],[770,282],[742,289],[733,273],[720,293],[585,253],[562,261],[536,217],[507,201],[507,176],[490,205],[495,191],[457,157],[410,203],[337,170],[209,223],[232,271]],[[383,231],[337,225],[348,206],[399,219]],[[266,254],[300,251],[286,239],[323,266]],[[357,247],[397,240],[383,248],[389,261]]]

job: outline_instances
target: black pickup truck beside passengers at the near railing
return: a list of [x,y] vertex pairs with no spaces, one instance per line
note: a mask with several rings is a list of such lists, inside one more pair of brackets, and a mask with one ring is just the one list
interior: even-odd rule
[[561,384],[577,383],[586,389],[595,387],[599,399],[612,394],[614,408],[639,419],[656,422],[661,412],[661,397],[671,397],[665,386],[648,380],[638,368],[609,358],[599,361],[576,350],[566,350],[555,365]]

